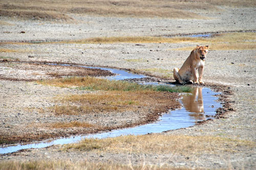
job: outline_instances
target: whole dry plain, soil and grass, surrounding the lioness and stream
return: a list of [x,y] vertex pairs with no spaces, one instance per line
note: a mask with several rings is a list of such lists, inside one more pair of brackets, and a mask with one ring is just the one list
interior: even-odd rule
[[[209,45],[204,82],[222,93],[225,106],[221,116],[194,127],[3,154],[0,169],[255,169],[255,6],[255,1],[218,0],[1,1],[2,145],[135,126],[180,107],[177,93],[144,92],[139,95],[170,102],[157,108],[152,101],[141,102],[147,96],[128,101],[143,106],[139,109],[123,103],[127,110],[102,107],[93,115],[59,116],[45,110],[62,98],[99,93],[113,97],[115,92],[46,85],[45,80],[111,73],[34,62],[116,67],[173,80],[173,68],[197,44]],[[188,37],[202,33],[211,36]],[[155,116],[148,117],[154,109]]]

